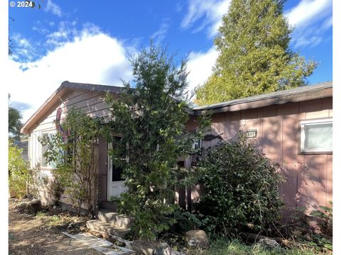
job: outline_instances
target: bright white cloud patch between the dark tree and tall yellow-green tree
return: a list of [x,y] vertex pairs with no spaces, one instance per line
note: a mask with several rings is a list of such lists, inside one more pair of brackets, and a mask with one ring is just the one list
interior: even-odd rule
[[188,81],[190,91],[202,85],[212,74],[212,67],[217,60],[218,52],[211,47],[207,52],[191,52],[188,60]]

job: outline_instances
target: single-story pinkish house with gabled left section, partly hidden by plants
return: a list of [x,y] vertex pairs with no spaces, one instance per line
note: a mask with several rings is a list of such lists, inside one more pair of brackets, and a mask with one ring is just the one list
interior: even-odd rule
[[[61,84],[21,129],[29,136],[31,168],[38,163],[42,176],[52,176],[53,165],[43,159],[45,148],[38,137],[56,132],[53,120],[57,109],[65,112],[65,106],[75,106],[91,116],[106,118],[109,116],[104,100],[107,91],[119,98],[122,88],[69,81]],[[280,191],[286,211],[303,205],[329,205],[332,200],[332,82],[194,108],[188,131],[195,130],[195,117],[209,110],[212,111],[210,131],[196,145],[202,147],[202,154],[179,164],[195,164],[198,157],[205,157],[208,147],[215,146],[219,140],[236,139],[242,130],[285,172],[288,181]],[[99,140],[94,204],[114,208],[109,203],[110,196],[119,196],[125,187],[124,181],[114,173],[107,149],[107,142]],[[191,201],[200,196],[200,187],[178,191],[177,195],[178,203],[190,208]],[[43,203],[50,202],[43,186],[40,196]],[[65,198],[62,202],[68,203]]]

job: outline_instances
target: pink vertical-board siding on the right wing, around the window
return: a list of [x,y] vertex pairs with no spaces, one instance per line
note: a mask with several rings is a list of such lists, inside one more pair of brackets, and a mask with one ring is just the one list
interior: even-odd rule
[[[219,140],[236,139],[239,130],[256,129],[251,138],[270,159],[278,162],[286,176],[280,187],[285,203],[284,214],[296,207],[308,210],[330,205],[332,200],[332,154],[302,154],[301,120],[332,118],[332,97],[283,103],[242,111],[225,111],[212,115],[203,147],[213,147]],[[188,123],[188,129],[193,129]],[[199,193],[193,191],[193,199]]]

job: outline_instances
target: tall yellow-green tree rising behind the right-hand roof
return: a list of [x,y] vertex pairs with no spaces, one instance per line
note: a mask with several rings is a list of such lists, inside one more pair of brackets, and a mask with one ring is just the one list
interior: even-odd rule
[[232,0],[215,38],[213,74],[197,89],[200,105],[307,84],[315,62],[289,47],[292,28],[283,0]]

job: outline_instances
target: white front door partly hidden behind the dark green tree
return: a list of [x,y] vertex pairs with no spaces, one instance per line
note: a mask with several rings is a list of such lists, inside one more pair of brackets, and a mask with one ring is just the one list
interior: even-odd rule
[[[108,149],[112,149],[112,144],[109,143]],[[126,191],[124,186],[124,179],[121,178],[121,167],[115,166],[112,162],[112,158],[108,156],[108,201],[110,197],[119,197],[121,193]]]

